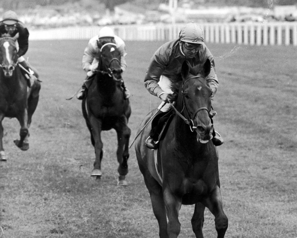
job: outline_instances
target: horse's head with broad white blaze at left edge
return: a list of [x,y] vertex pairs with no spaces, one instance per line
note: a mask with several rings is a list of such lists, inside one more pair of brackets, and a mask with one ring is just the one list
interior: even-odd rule
[[15,38],[0,38],[0,67],[6,77],[11,77],[16,66],[17,48]]

